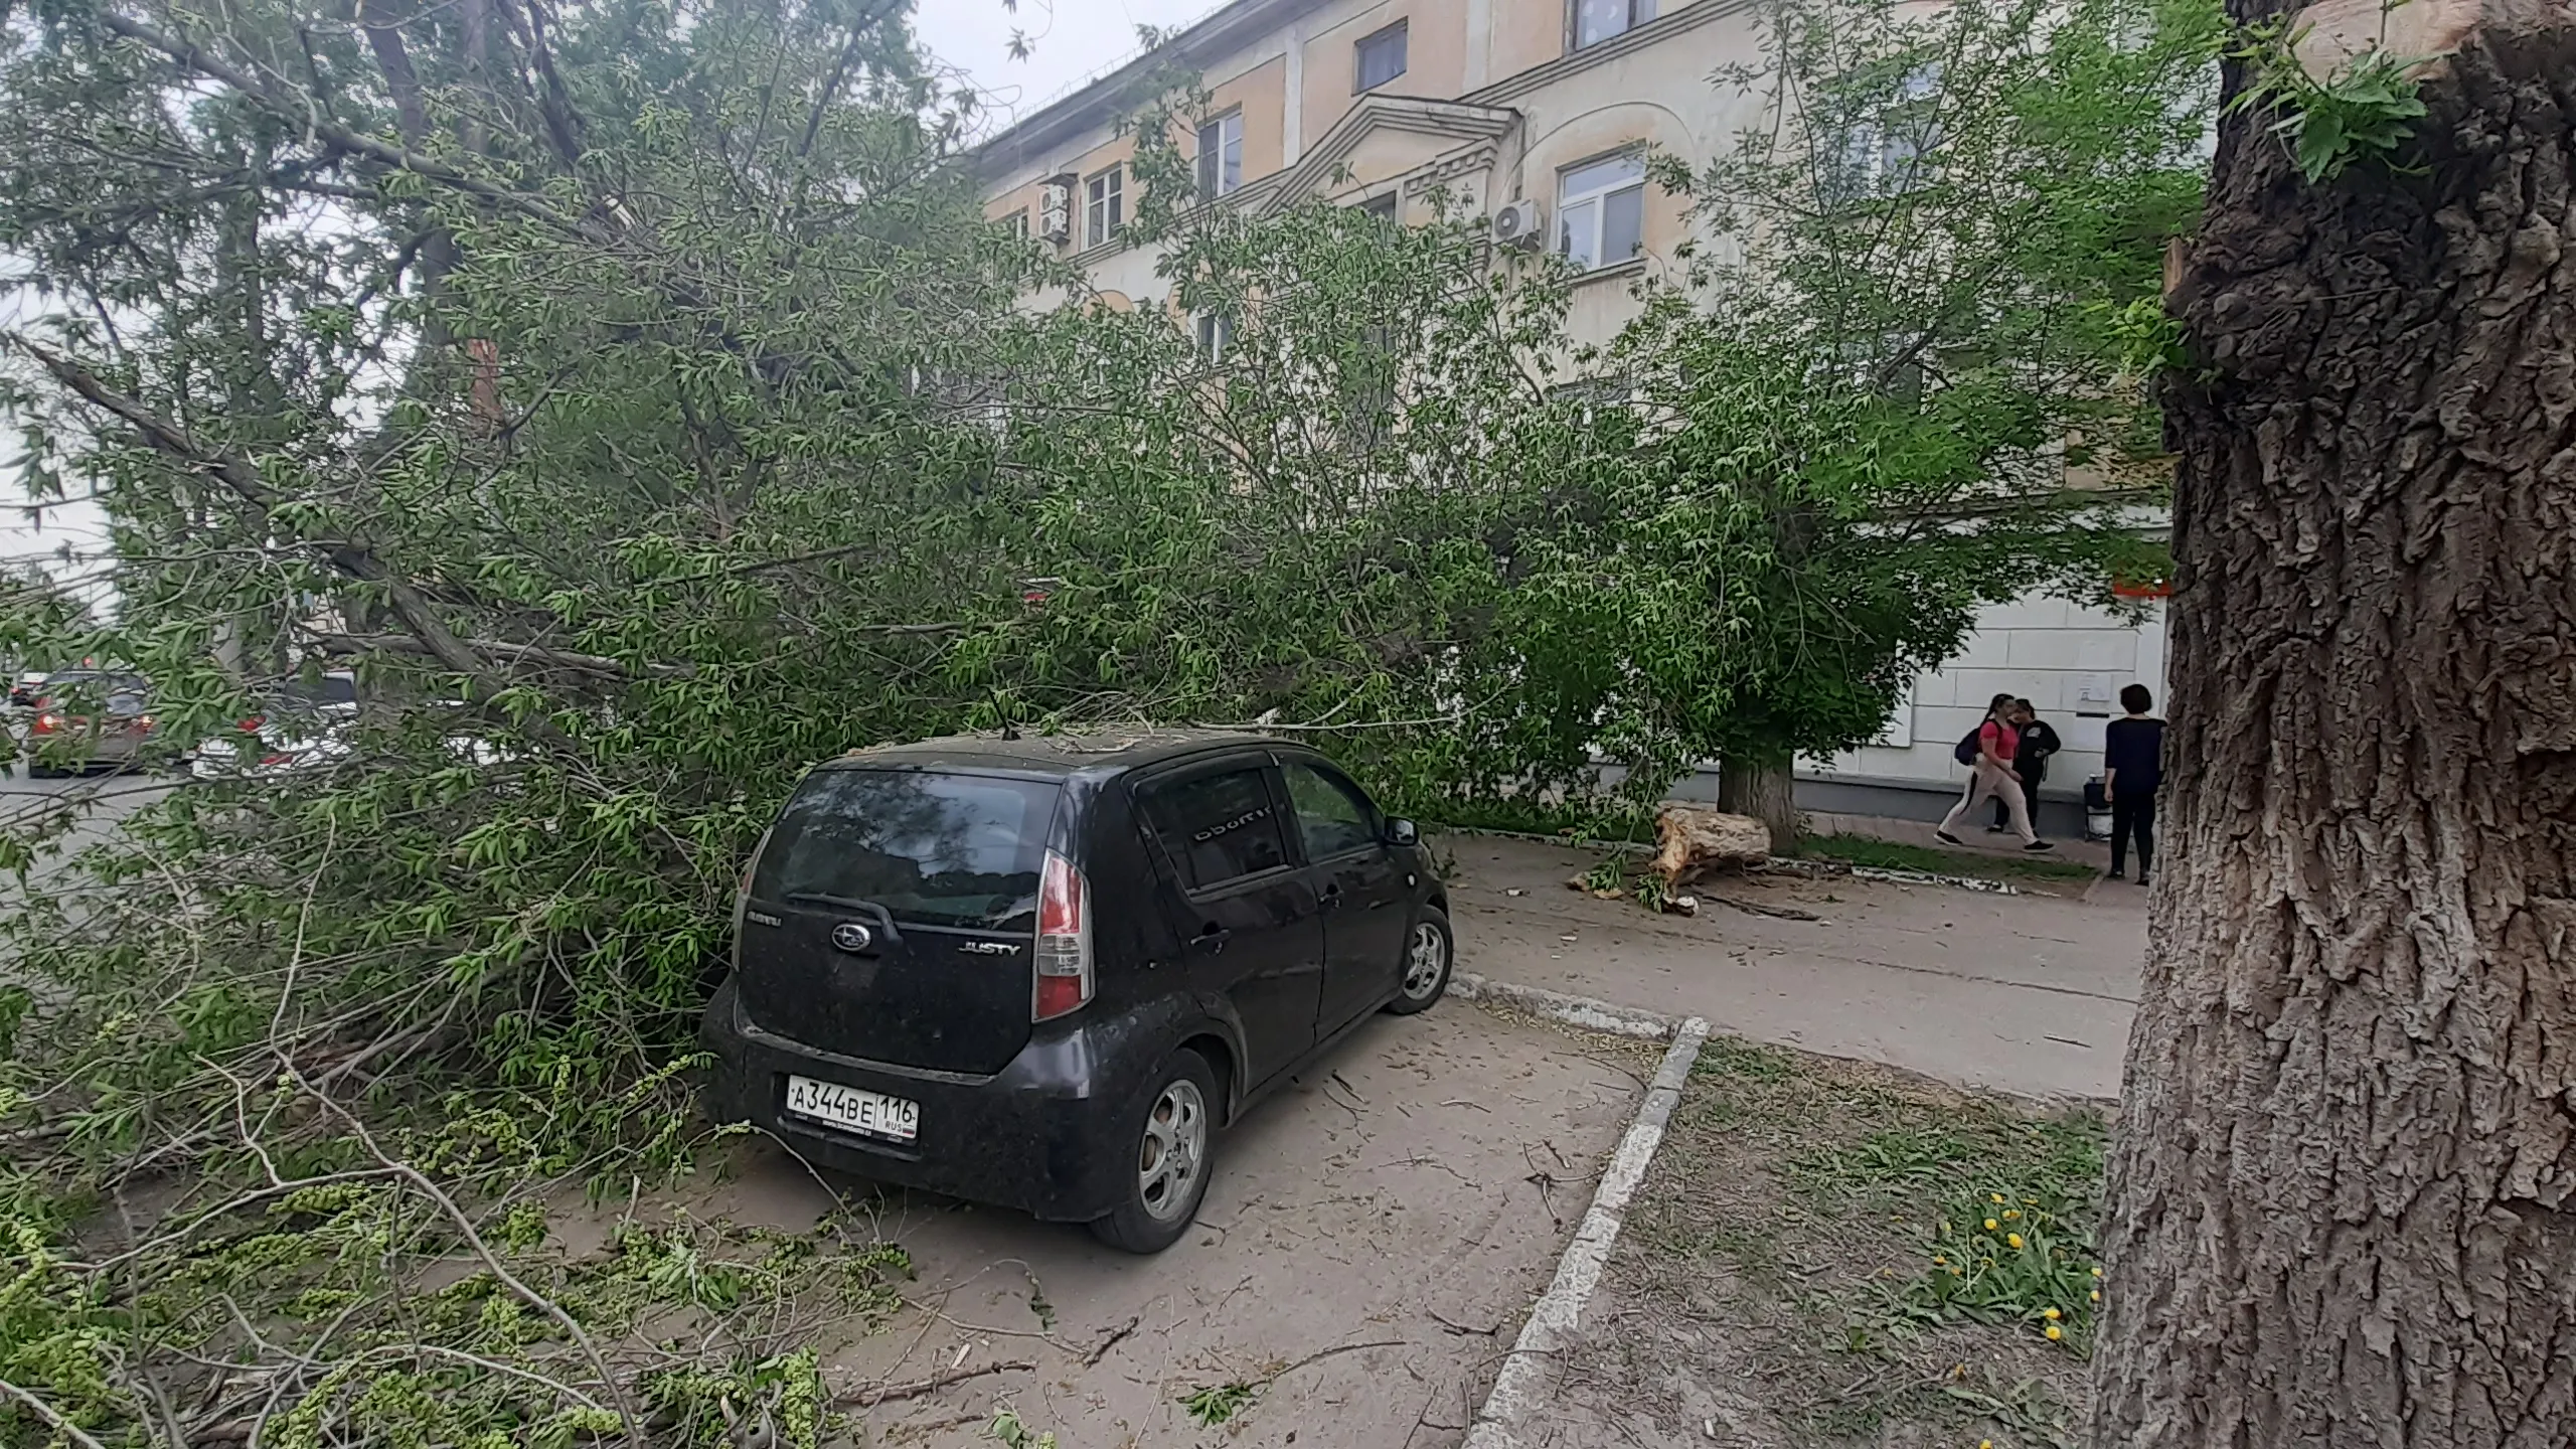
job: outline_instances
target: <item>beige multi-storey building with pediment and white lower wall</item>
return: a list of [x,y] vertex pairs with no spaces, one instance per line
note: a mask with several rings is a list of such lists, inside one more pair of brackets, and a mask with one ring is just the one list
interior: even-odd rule
[[[1489,217],[1497,242],[1574,260],[1569,330],[1607,340],[1636,312],[1633,281],[1680,266],[1690,227],[1646,178],[1646,152],[1700,165],[1765,119],[1765,95],[1713,80],[1759,62],[1757,21],[1754,0],[1234,0],[987,142],[987,214],[1082,266],[1105,304],[1167,309],[1154,250],[1126,235],[1136,144],[1118,116],[1180,67],[1211,95],[1185,142],[1200,196],[1252,209],[1324,199],[1401,222],[1430,219],[1437,188]],[[2071,799],[2099,768],[2117,688],[2164,678],[2148,608],[2143,627],[2112,601],[1986,611],[1875,745],[1806,761],[1801,799],[1940,815],[1965,773],[1950,745],[1996,691],[2030,696],[2058,724],[2069,755],[2050,794]]]

